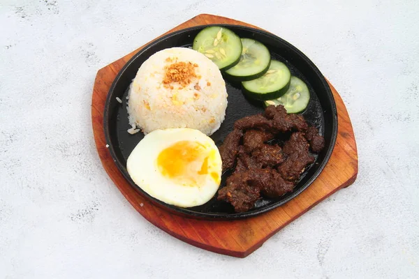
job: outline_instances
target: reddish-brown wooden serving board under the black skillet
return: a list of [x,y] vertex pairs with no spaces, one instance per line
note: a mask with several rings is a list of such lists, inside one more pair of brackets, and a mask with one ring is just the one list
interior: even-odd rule
[[[239,24],[255,27],[226,17],[203,14],[193,17],[163,35],[203,24]],[[103,167],[121,193],[128,199],[128,202],[150,223],[193,246],[234,257],[246,257],[262,246],[279,229],[291,223],[332,193],[355,181],[358,174],[358,153],[351,120],[339,93],[329,83],[333,96],[335,96],[339,123],[335,149],[316,181],[290,202],[253,218],[223,221],[184,218],[152,204],[146,197],[136,192],[119,172],[105,146],[103,132],[103,110],[110,86],[119,70],[142,47],[98,71],[91,100],[91,121],[96,148]]]

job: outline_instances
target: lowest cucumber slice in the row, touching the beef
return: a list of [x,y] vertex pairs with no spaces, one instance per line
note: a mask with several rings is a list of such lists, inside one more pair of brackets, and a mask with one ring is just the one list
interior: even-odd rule
[[265,105],[284,105],[286,112],[298,113],[309,105],[310,91],[307,85],[298,77],[291,77],[290,88],[286,93],[274,100],[265,100]]

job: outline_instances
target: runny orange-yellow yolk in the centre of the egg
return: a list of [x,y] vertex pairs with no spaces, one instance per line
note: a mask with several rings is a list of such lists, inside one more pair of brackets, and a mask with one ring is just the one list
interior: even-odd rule
[[[184,186],[200,186],[210,172],[208,160],[214,155],[200,142],[180,141],[159,153],[157,166],[163,176],[177,181]],[[219,175],[211,172],[210,176],[219,183]]]

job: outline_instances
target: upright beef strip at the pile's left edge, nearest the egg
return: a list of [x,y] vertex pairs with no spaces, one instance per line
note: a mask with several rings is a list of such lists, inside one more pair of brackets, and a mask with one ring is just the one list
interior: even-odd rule
[[241,130],[234,129],[233,132],[227,135],[226,140],[224,140],[223,144],[219,147],[221,160],[223,162],[223,171],[234,167],[242,135],[243,133]]

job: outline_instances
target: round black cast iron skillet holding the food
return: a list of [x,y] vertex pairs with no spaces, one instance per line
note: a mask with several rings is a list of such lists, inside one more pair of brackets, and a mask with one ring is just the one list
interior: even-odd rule
[[[136,186],[131,180],[128,172],[126,171],[126,160],[134,149],[134,147],[142,140],[144,135],[137,133],[130,135],[126,132],[131,128],[128,124],[128,115],[126,111],[126,96],[128,93],[128,86],[135,77],[135,74],[140,68],[141,64],[155,52],[166,49],[168,47],[190,47],[193,43],[193,38],[205,26],[191,27],[170,33],[159,40],[150,43],[144,47],[140,52],[135,54],[133,58],[126,63],[124,68],[119,72],[115,78],[105,105],[105,115],[103,126],[105,130],[106,142],[109,144],[109,150],[112,158],[115,160],[117,167],[124,174],[126,180],[131,183],[141,195],[150,199],[154,204],[163,206],[163,208],[183,216],[192,218],[206,218],[206,219],[237,219],[256,216],[260,213],[269,211],[271,209],[285,204],[293,197],[300,194],[316,179],[318,174],[321,173],[323,168],[332,154],[333,147],[337,137],[337,110],[335,100],[332,92],[325,81],[325,78],[320,73],[318,68],[310,59],[305,56],[296,47],[286,42],[285,40],[249,27],[242,27],[237,25],[216,24],[219,26],[227,27],[233,30],[241,38],[253,38],[263,43],[270,50],[272,59],[277,59],[286,63],[291,70],[291,74],[306,82],[310,90],[310,103],[307,110],[303,113],[306,121],[313,126],[316,126],[320,133],[325,137],[325,148],[321,153],[316,156],[316,162],[310,167],[307,167],[302,174],[300,181],[294,188],[292,193],[288,193],[277,199],[260,199],[256,203],[254,209],[244,212],[235,213],[233,206],[226,202],[220,202],[213,197],[210,202],[202,206],[195,206],[188,209],[172,206],[164,202],[154,199],[140,187]],[[226,119],[223,121],[219,130],[212,135],[212,140],[217,146],[220,146],[228,133],[233,130],[233,123],[244,116],[251,114],[258,114],[263,112],[263,105],[260,103],[253,103],[251,100],[244,98],[242,91],[237,84],[231,84],[226,80],[228,92],[228,107],[226,111]],[[116,97],[121,98],[122,104],[117,102]],[[223,174],[221,186],[225,186],[226,178],[230,173]]]

